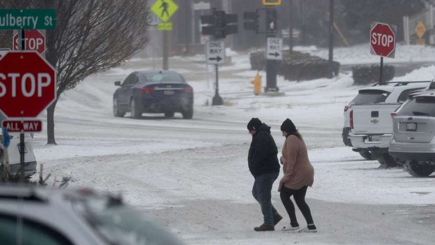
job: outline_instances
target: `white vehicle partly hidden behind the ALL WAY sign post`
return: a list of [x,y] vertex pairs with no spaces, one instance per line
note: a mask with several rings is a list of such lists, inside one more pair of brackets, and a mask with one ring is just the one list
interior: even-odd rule
[[[16,176],[20,173],[21,168],[21,148],[20,148],[20,134],[19,133],[9,133],[9,146],[8,150],[8,158],[9,158],[9,167],[11,170],[11,174]],[[3,137],[3,132],[0,130],[0,157],[5,160],[5,147],[3,146],[5,138]],[[24,134],[24,175],[26,178],[34,175],[36,173],[36,158],[33,154],[33,134],[25,133]],[[3,179],[3,170],[0,168],[0,180]]]

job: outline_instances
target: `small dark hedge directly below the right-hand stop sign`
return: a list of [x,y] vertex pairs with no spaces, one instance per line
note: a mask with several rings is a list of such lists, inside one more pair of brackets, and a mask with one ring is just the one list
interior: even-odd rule
[[[394,66],[382,66],[383,81],[386,82],[392,80],[394,77]],[[367,85],[373,83],[380,83],[380,66],[354,66],[352,67],[352,73],[355,85]]]

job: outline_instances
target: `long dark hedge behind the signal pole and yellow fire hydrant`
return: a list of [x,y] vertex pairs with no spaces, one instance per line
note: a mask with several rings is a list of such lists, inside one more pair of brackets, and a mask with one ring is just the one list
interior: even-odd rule
[[[266,56],[263,51],[254,52],[250,55],[252,70],[265,70]],[[333,62],[333,73],[338,74],[340,63]],[[329,77],[329,62],[317,56],[307,53],[285,50],[282,60],[277,60],[276,73],[284,76],[286,80],[311,80],[321,77]]]

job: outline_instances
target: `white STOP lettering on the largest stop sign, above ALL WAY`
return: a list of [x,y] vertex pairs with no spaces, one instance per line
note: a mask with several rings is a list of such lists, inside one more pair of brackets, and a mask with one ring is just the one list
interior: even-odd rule
[[[11,91],[6,89],[7,80],[11,81]],[[25,97],[33,97],[35,93],[37,97],[42,97],[42,88],[48,87],[50,83],[51,77],[48,73],[38,73],[36,77],[32,73],[24,73],[23,75],[20,73],[0,73],[0,97],[5,95],[16,97],[17,87],[20,88],[21,94]]]

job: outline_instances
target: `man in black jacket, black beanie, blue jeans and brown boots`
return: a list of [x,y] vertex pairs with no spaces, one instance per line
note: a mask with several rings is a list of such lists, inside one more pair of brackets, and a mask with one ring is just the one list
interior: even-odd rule
[[279,175],[278,148],[270,134],[270,127],[258,118],[252,118],[248,123],[252,142],[248,153],[248,167],[255,181],[252,195],[260,203],[264,223],[255,227],[255,231],[274,231],[275,224],[282,219],[271,202],[273,182]]

